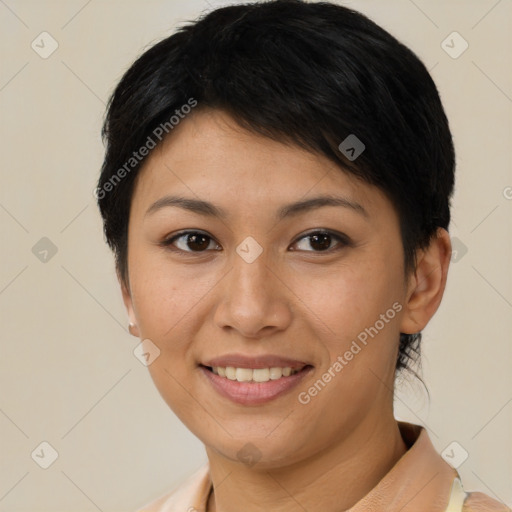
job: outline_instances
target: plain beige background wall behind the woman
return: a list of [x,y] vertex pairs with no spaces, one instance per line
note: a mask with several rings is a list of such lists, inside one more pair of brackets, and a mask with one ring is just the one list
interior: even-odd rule
[[[0,0],[0,512],[134,510],[206,460],[133,356],[92,190],[123,71],[221,3]],[[512,2],[343,3],[432,70],[457,149],[458,259],[424,337],[431,398],[405,383],[396,414],[440,452],[457,441],[465,487],[511,506]],[[31,48],[43,31],[59,45],[47,59]],[[441,46],[453,31],[469,44],[457,59]],[[32,252],[42,237],[57,248],[45,263]],[[48,469],[31,458],[43,441],[58,452]]]

